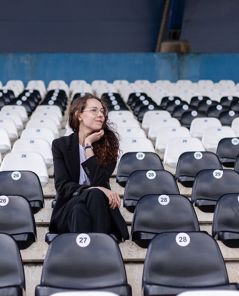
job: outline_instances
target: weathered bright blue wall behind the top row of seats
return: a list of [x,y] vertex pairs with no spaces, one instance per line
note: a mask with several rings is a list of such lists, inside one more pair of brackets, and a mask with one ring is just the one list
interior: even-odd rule
[[239,82],[239,54],[155,54],[155,53],[88,53],[88,54],[0,54],[0,81],[10,79],[29,80],[61,79],[70,83],[84,79],[113,82],[126,79],[148,79],[154,82],[168,79],[232,79]]

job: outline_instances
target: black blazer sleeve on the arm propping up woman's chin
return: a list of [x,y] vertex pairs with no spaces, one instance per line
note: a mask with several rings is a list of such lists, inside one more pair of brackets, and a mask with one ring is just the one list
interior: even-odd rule
[[116,161],[109,163],[106,167],[101,167],[99,161],[93,155],[82,162],[81,165],[91,182],[91,186],[107,187],[107,182],[116,167]]

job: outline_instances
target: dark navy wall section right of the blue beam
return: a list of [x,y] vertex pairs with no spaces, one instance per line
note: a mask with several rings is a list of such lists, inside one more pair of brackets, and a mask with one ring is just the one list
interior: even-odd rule
[[238,0],[186,0],[181,39],[191,52],[239,52]]

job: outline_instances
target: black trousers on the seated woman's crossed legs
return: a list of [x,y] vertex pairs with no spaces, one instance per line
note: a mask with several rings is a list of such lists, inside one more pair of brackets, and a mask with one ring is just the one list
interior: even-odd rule
[[108,212],[108,199],[98,188],[83,191],[70,199],[55,217],[59,233],[114,232],[114,222]]

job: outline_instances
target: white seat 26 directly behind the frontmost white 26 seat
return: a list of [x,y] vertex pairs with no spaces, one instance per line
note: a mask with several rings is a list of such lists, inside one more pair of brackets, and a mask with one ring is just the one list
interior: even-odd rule
[[44,157],[47,168],[49,168],[53,164],[51,147],[48,141],[45,139],[18,139],[13,144],[11,152],[38,152]]

